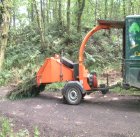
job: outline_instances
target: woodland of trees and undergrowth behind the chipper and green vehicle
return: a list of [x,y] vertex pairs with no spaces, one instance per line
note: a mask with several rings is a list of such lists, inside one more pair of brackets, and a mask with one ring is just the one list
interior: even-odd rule
[[[140,14],[139,0],[0,0],[0,85],[32,76],[55,53],[77,61],[97,19]],[[88,42],[85,64],[100,73],[120,69],[122,30],[102,30]]]

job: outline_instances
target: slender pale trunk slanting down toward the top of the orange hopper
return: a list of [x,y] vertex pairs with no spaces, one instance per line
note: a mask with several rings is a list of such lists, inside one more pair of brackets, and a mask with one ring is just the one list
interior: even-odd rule
[[45,43],[44,31],[43,31],[43,28],[42,28],[41,18],[39,16],[39,11],[37,9],[36,0],[33,0],[33,4],[34,4],[35,11],[36,11],[36,18],[37,18],[38,28],[39,28],[39,32],[40,32],[41,51],[43,52],[46,48],[47,43]]

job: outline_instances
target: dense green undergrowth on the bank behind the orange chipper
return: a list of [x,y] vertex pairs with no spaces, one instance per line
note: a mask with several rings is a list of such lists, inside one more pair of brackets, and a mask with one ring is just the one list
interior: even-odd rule
[[[117,31],[114,32],[105,36],[101,31],[87,43],[84,63],[89,71],[100,74],[108,66],[120,68],[121,38],[117,38]],[[60,26],[57,22],[48,25],[45,39],[49,47],[42,52],[40,36],[35,25],[11,29],[3,71],[0,72],[0,85],[20,83],[27,77],[30,78],[38,71],[45,58],[54,56],[55,53],[61,54],[63,51],[63,56],[78,62],[80,44],[86,33],[83,29],[82,35],[79,35],[71,28],[68,35],[65,26]]]

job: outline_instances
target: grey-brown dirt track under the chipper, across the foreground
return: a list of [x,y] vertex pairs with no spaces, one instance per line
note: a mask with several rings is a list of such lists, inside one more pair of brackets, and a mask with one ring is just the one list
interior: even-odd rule
[[0,116],[12,118],[16,129],[38,126],[41,137],[140,137],[140,96],[95,93],[72,106],[50,92],[9,101],[8,90],[0,88]]

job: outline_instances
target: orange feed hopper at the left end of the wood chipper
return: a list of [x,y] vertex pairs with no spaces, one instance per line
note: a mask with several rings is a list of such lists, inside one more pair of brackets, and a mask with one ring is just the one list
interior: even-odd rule
[[37,84],[72,81],[73,69],[61,63],[59,55],[47,58],[37,73]]

